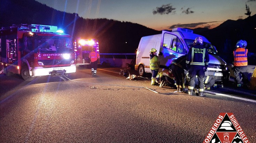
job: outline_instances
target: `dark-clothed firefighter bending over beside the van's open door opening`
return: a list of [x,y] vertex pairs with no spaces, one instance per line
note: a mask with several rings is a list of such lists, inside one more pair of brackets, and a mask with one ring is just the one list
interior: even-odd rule
[[186,68],[186,55],[178,57],[171,63],[171,69],[176,81],[177,90],[182,92],[185,91],[185,71]]

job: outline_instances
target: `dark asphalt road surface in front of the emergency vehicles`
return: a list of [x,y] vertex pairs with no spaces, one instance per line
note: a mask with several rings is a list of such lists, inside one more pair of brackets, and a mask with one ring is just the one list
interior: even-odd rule
[[188,96],[105,70],[30,82],[0,74],[0,142],[200,143],[220,113],[256,142],[255,100]]

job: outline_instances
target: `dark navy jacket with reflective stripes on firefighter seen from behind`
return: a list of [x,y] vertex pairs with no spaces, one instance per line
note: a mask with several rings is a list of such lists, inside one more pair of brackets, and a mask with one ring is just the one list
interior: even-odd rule
[[186,63],[190,65],[208,65],[209,53],[207,49],[200,44],[193,45],[187,54]]

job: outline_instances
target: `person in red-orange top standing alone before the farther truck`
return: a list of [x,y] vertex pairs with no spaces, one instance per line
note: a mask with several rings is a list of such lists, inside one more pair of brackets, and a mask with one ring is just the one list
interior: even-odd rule
[[92,52],[90,52],[89,57],[91,59],[92,75],[96,75],[98,59],[100,58],[100,54],[96,51],[96,48],[92,48]]

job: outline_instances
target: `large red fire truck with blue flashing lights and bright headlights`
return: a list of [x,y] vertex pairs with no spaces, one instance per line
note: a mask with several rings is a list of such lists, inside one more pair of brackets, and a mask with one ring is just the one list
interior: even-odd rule
[[0,71],[24,80],[76,72],[72,38],[57,26],[20,24],[0,29]]

